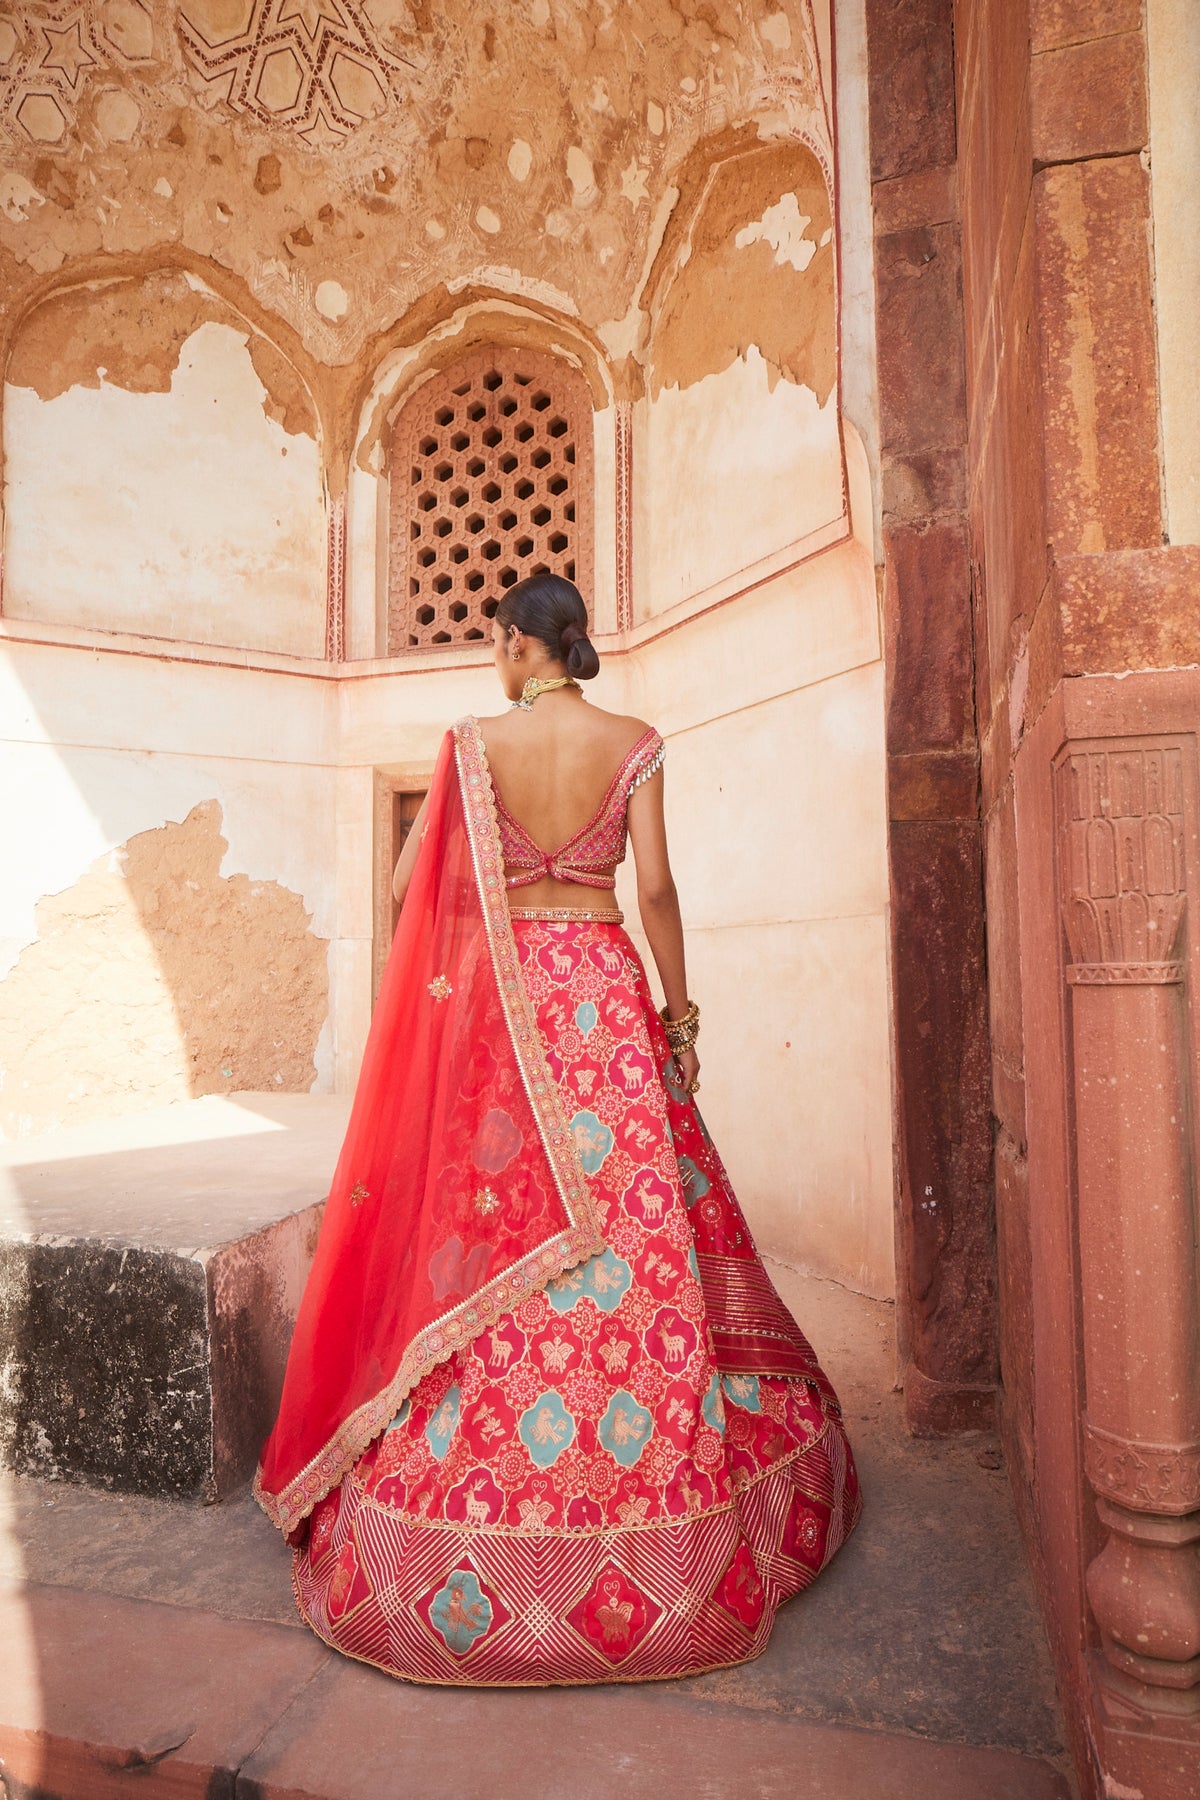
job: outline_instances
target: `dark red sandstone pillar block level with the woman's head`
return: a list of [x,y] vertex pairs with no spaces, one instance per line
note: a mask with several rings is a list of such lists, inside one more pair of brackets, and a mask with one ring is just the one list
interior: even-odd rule
[[891,752],[973,743],[966,522],[883,531],[885,607],[896,623],[887,704]]

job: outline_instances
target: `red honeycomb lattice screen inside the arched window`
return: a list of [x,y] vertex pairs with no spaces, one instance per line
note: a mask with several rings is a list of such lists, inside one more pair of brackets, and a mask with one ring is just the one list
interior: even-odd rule
[[542,569],[592,612],[592,396],[576,369],[475,349],[412,394],[390,450],[389,655],[489,639],[506,587]]

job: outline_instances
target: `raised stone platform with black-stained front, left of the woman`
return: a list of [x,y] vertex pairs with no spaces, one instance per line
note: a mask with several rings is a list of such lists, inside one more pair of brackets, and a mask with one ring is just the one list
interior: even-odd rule
[[0,1148],[0,1463],[219,1499],[282,1386],[349,1100],[205,1096]]

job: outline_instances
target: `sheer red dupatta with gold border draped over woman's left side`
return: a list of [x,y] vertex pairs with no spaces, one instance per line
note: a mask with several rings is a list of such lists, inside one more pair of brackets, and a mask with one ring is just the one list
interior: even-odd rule
[[291,1532],[437,1363],[603,1251],[533,1017],[473,718],[426,826],[254,1494]]

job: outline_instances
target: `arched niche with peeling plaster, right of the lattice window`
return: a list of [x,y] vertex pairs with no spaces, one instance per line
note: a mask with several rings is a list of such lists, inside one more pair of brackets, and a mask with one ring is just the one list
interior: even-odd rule
[[788,139],[682,171],[646,293],[635,616],[846,520],[831,182]]

